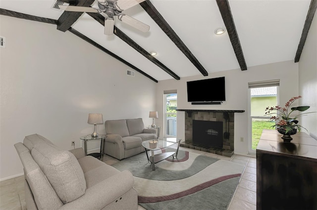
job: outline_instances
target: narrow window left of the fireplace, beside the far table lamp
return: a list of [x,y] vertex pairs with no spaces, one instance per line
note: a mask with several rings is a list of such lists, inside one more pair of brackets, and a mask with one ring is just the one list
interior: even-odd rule
[[164,136],[175,137],[177,124],[177,91],[164,91]]

